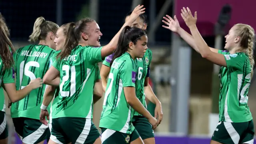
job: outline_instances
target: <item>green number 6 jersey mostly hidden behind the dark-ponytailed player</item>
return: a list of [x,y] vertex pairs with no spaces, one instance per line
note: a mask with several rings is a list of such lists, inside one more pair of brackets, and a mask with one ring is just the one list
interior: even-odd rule
[[[107,56],[102,64],[105,66],[110,67],[110,62],[113,58],[114,54]],[[138,67],[138,78],[136,78],[136,96],[143,104],[145,108],[147,108],[147,104],[145,101],[145,94],[144,94],[144,82],[145,78],[149,77],[150,74],[150,62],[152,60],[152,51],[150,49],[146,50],[146,53],[143,58],[136,58],[135,62],[137,63]],[[138,112],[135,112],[135,116],[142,116]]]

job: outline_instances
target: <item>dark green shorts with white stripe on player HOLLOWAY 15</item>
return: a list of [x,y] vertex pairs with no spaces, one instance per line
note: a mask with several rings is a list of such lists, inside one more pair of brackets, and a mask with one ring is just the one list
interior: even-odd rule
[[37,144],[50,137],[48,126],[32,118],[12,118],[15,131],[25,144]]

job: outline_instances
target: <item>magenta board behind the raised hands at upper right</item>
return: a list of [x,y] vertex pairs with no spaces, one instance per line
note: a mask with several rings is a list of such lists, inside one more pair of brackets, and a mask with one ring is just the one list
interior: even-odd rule
[[243,2],[241,0],[175,0],[175,15],[177,16],[180,26],[189,32],[180,13],[182,7],[189,7],[192,14],[197,11],[197,22],[199,32],[202,36],[214,35],[214,24],[218,20],[220,10],[225,4],[232,7],[232,15],[227,26],[228,30],[237,23],[249,24],[256,29],[256,19],[252,17],[256,6],[256,0]]

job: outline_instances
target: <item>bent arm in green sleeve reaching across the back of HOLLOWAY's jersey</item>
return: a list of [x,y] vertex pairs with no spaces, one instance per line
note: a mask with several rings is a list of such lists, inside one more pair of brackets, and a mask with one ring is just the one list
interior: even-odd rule
[[16,85],[14,83],[14,78],[12,76],[12,68],[5,70],[3,76],[3,87],[6,91],[11,102],[17,102],[25,98],[32,90],[42,87],[42,79],[36,78],[31,80],[30,83],[22,88],[21,90],[16,90]]

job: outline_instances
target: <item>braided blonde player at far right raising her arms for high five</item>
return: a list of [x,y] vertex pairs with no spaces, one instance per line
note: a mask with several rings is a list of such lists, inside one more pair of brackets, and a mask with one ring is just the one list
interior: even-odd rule
[[247,94],[254,67],[254,29],[246,24],[235,24],[225,36],[226,50],[216,50],[209,48],[198,32],[196,12],[193,17],[189,8],[183,8],[181,15],[190,28],[198,52],[221,66],[220,116],[211,144],[253,144],[254,124]]

